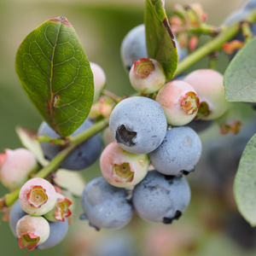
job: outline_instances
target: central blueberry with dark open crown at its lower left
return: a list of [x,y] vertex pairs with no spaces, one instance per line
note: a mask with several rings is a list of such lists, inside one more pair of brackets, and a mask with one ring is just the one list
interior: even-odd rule
[[167,123],[159,103],[137,96],[113,108],[109,127],[119,147],[134,154],[148,154],[162,143]]

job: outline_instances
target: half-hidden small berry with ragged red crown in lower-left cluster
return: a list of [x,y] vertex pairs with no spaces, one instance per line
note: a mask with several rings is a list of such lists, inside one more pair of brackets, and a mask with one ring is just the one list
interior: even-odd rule
[[69,207],[72,205],[72,201],[69,201],[63,195],[57,193],[57,201],[55,207],[46,214],[44,217],[47,218],[49,221],[65,221],[65,218],[70,216],[72,212],[70,211]]

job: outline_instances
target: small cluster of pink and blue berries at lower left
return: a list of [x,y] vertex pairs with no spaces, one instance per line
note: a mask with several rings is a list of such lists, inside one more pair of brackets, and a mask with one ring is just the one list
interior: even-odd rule
[[20,248],[54,247],[67,235],[72,202],[56,193],[44,178],[35,177],[20,189],[19,201],[9,212],[9,225]]

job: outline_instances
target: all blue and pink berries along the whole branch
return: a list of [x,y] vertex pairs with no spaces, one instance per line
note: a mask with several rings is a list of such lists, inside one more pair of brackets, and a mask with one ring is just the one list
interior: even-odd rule
[[[195,171],[202,150],[200,137],[189,126],[205,122],[199,125],[203,130],[230,108],[224,100],[222,74],[201,69],[168,82],[160,62],[148,58],[145,38],[145,26],[137,26],[121,46],[131,86],[140,96],[114,101],[108,95],[101,97],[106,75],[96,63],[90,63],[94,104],[88,119],[70,137],[90,129],[93,120],[109,117],[108,137],[112,138],[102,151],[100,135],[90,137],[59,166],[81,171],[100,157],[102,177],[91,180],[81,196],[84,213],[80,218],[96,230],[122,228],[135,211],[154,223],[171,224],[180,218],[191,196],[183,174]],[[187,54],[178,43],[177,52],[179,61]],[[38,137],[51,138],[51,142],[63,139],[45,122],[38,129]],[[62,141],[70,142],[68,138]],[[53,160],[66,146],[42,142],[44,160]],[[40,176],[29,179],[41,166],[25,148],[5,149],[0,154],[0,167],[4,186],[10,190],[22,186],[19,201],[9,213],[10,228],[20,247],[55,246],[67,234],[72,195],[56,186],[54,177],[47,177],[49,181]]]

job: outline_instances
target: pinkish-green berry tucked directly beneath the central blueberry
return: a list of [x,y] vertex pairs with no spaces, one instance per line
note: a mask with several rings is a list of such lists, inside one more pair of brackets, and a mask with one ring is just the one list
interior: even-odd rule
[[148,172],[148,154],[132,154],[110,143],[102,152],[102,175],[111,185],[128,188],[141,182]]

